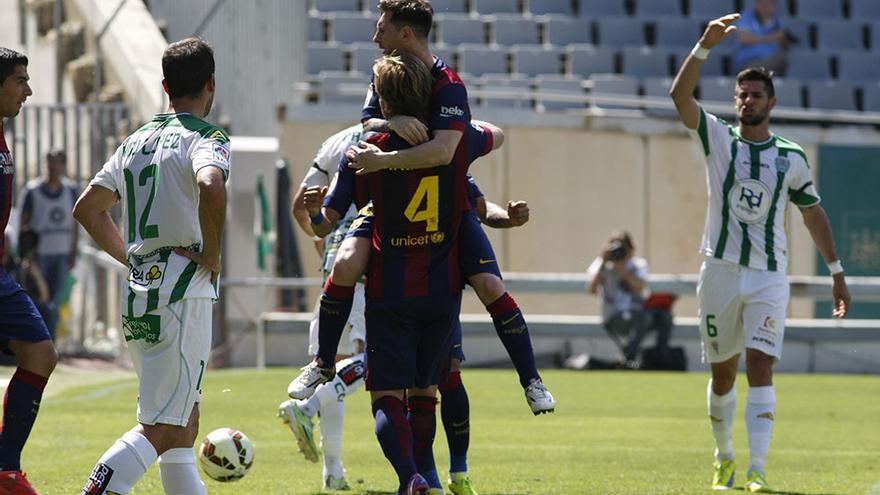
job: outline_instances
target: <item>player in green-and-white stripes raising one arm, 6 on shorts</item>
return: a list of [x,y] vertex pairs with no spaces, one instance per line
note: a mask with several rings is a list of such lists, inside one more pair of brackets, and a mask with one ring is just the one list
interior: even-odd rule
[[670,96],[706,156],[709,205],[697,295],[703,356],[712,368],[707,391],[716,444],[712,487],[723,490],[734,484],[734,381],[745,350],[750,451],[745,488],[763,492],[770,491],[765,465],[776,415],[773,364],[782,356],[789,297],[785,231],[789,201],[800,209],[828,264],[833,316],[846,316],[850,296],[806,155],[796,143],[770,132],[770,112],[776,105],[772,74],[765,69],[737,74],[733,95],[737,125],[707,113],[694,99],[704,60],[736,30],[737,19],[739,14],[730,14],[709,23],[679,70]]

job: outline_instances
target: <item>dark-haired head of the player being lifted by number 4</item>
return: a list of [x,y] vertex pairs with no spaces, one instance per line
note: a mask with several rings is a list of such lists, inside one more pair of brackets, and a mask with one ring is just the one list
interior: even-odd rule
[[379,21],[373,41],[388,55],[413,43],[427,43],[434,9],[427,0],[379,0]]

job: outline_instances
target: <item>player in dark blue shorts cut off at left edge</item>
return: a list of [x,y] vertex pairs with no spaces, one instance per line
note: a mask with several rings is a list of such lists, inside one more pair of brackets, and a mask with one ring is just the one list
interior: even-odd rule
[[[3,133],[3,119],[15,117],[28,96],[28,59],[0,47],[0,232],[12,211],[15,165]],[[4,238],[0,238],[0,256]],[[21,451],[40,410],[43,389],[58,363],[49,330],[34,302],[21,286],[0,268],[0,350],[15,355],[16,368],[3,398],[0,430],[0,493],[35,495],[21,471]]]

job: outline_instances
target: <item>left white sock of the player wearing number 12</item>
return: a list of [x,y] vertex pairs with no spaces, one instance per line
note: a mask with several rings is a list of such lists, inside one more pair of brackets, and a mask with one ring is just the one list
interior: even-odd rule
[[98,460],[83,493],[103,495],[110,491],[126,495],[156,457],[156,449],[147,437],[126,432]]

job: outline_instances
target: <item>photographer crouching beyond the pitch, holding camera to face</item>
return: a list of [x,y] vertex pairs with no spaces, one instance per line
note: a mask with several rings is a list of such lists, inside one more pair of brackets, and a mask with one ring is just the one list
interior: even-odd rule
[[622,345],[624,359],[636,360],[639,344],[647,333],[645,298],[648,292],[648,262],[634,255],[635,246],[627,232],[612,232],[599,256],[587,268],[587,290],[602,290],[602,322],[608,334]]

